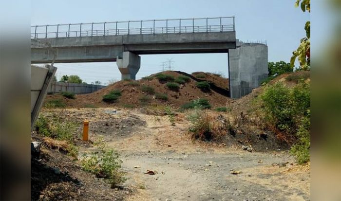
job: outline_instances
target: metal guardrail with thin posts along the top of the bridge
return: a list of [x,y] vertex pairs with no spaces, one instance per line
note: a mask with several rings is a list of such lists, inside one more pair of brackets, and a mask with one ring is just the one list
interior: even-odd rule
[[235,31],[233,17],[179,18],[31,26],[31,38]]

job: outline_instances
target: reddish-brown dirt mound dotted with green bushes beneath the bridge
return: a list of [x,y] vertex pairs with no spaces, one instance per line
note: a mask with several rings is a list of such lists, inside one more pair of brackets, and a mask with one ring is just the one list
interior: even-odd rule
[[[212,107],[225,106],[228,99],[228,79],[214,75],[212,73],[202,73],[205,77],[197,78],[193,75],[176,72],[166,71],[162,74],[171,75],[175,79],[179,76],[188,76],[189,81],[183,84],[179,84],[179,90],[170,90],[167,87],[167,82],[159,81],[153,74],[149,77],[152,79],[140,79],[140,80],[122,80],[114,83],[104,89],[95,91],[90,94],[76,95],[76,99],[67,99],[59,94],[48,95],[46,102],[54,99],[61,99],[62,102],[69,108],[91,108],[91,107],[108,107],[108,106],[120,106],[120,107],[143,107],[145,105],[166,105],[179,108],[185,103],[197,98],[208,99]],[[158,73],[159,74],[159,73]],[[208,81],[210,85],[209,91],[202,91],[196,87],[196,83],[200,81]],[[143,87],[151,87],[154,92],[143,91]],[[103,95],[109,94],[111,91],[121,91],[121,96],[114,103],[103,102]],[[168,100],[158,99],[158,94],[164,94]]]

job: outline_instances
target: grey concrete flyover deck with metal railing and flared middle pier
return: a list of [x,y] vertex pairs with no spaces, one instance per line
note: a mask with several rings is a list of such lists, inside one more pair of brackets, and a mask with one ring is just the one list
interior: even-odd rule
[[[234,19],[179,18],[32,26],[31,63],[116,61],[122,79],[135,79],[140,68],[139,55],[228,53],[236,49]],[[239,59],[236,55],[233,58]]]

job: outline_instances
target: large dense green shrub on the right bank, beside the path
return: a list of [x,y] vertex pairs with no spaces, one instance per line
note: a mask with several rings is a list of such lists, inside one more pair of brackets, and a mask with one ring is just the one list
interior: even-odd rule
[[296,143],[291,153],[299,163],[309,160],[310,151],[310,83],[301,82],[293,88],[277,82],[260,95],[265,121],[275,128],[277,138]]

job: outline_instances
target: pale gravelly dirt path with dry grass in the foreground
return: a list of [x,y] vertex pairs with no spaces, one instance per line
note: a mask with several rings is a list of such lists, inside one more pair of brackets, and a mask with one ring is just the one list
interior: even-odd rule
[[[93,109],[90,135],[103,135],[121,154],[129,178],[125,185],[136,189],[127,201],[309,200],[309,171],[293,164],[287,152],[250,153],[240,147],[194,143],[181,116],[176,126],[170,126],[167,116],[138,111],[120,110],[111,119],[101,118],[111,110]],[[285,166],[276,165],[281,163]],[[147,170],[157,173],[144,174]]]

